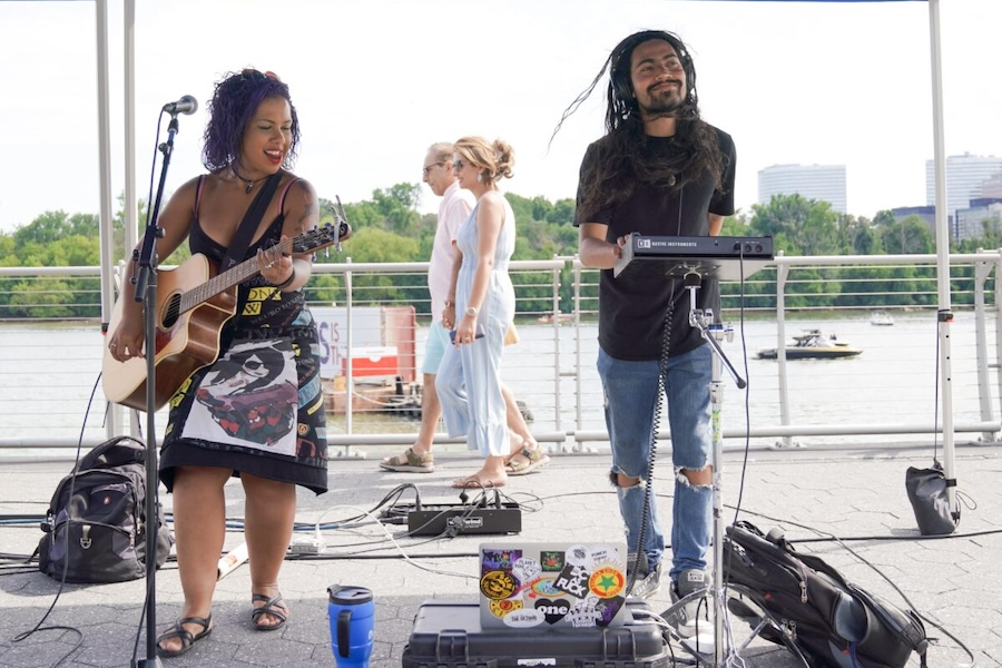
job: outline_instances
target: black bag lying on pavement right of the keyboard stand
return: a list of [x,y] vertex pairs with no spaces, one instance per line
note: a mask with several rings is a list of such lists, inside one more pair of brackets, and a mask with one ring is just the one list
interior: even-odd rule
[[[724,579],[770,617],[762,637],[786,646],[812,667],[902,668],[929,641],[922,619],[847,582],[813,554],[802,554],[780,529],[768,536],[750,522],[727,528]],[[753,627],[758,610],[730,598],[731,612]]]

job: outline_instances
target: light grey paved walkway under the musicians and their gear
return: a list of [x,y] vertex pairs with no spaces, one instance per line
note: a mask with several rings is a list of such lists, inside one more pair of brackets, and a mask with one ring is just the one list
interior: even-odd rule
[[[819,553],[851,580],[891,601],[901,601],[891,582],[900,588],[926,618],[929,635],[940,639],[929,652],[931,667],[961,666],[969,660],[946,632],[973,652],[978,666],[1002,666],[1002,446],[956,446],[959,489],[976,507],[964,509],[956,536],[929,540],[918,536],[904,490],[905,470],[931,463],[929,449],[760,450],[749,453],[743,469],[741,453],[733,450],[731,443],[727,445],[724,501],[728,522],[740,499],[743,519],[764,530],[782,525],[792,539],[817,538],[817,532],[841,537],[855,554],[831,541],[804,542],[798,549]],[[389,452],[373,452],[376,450],[370,449],[370,456]],[[607,454],[561,455],[538,474],[510,479],[503,491],[505,500],[521,504],[521,538],[620,539],[616,497],[607,483],[608,464]],[[43,513],[70,465],[67,461],[0,464],[0,514],[7,519]],[[402,503],[413,503],[415,493],[424,504],[455,503],[458,492],[450,482],[478,465],[465,454],[446,453],[439,456],[434,473],[418,475],[381,473],[373,460],[335,461],[331,465],[333,491],[323,497],[301,493],[297,520],[344,523],[376,507],[401,484],[414,485],[402,492]],[[662,456],[659,466],[655,474],[659,514],[668,527],[670,460]],[[229,517],[240,518],[238,483],[230,485],[228,497]],[[171,497],[165,495],[163,501],[169,510]],[[404,530],[376,522],[331,530],[325,533],[325,559],[286,562],[282,588],[292,619],[279,632],[250,629],[248,569],[246,564],[237,568],[218,583],[213,636],[181,658],[164,659],[163,665],[334,666],[326,588],[342,583],[364,586],[375,595],[372,666],[401,666],[419,606],[431,598],[474,600],[477,547],[497,538],[460,536],[430,541],[404,538]],[[35,527],[6,522],[0,524],[0,551],[30,553],[39,537]],[[228,534],[227,547],[240,542],[238,532]],[[134,656],[146,657],[141,633],[145,580],[67,584],[60,592],[58,582],[33,568],[8,567],[0,576],[0,666],[129,666]],[[156,583],[157,627],[163,629],[174,620],[181,602],[173,561],[158,571]],[[667,587],[650,600],[655,611],[668,605]],[[42,630],[14,641],[40,622]],[[43,630],[53,626],[63,628]],[[137,632],[138,655],[134,655]],[[763,640],[754,641],[743,657],[749,667],[798,665],[785,649]],[[913,657],[908,666],[917,666],[917,660]]]

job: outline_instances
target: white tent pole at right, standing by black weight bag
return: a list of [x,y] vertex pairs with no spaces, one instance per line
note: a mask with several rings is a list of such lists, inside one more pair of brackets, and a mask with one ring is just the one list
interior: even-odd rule
[[[943,139],[943,71],[940,45],[940,0],[929,0],[930,52],[932,56],[933,143],[935,158],[936,205],[936,284],[939,286],[937,335],[940,379],[943,406],[943,469],[947,481],[954,481],[953,456],[953,361],[950,350],[950,328],[953,311],[950,303],[950,227],[946,210],[946,158]],[[956,508],[956,488],[946,488],[951,511]]]

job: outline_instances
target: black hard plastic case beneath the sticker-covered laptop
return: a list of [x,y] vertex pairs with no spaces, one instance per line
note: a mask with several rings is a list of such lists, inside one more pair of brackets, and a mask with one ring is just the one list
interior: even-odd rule
[[403,668],[668,667],[661,628],[644,617],[641,599],[628,599],[619,627],[482,629],[477,602],[430,600],[418,609]]

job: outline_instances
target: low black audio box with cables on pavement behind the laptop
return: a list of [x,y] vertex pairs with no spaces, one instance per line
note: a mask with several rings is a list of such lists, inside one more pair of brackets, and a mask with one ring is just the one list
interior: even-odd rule
[[383,520],[403,523],[409,536],[459,536],[461,533],[519,533],[522,511],[518,503],[481,499],[475,503],[397,504],[383,512]]

